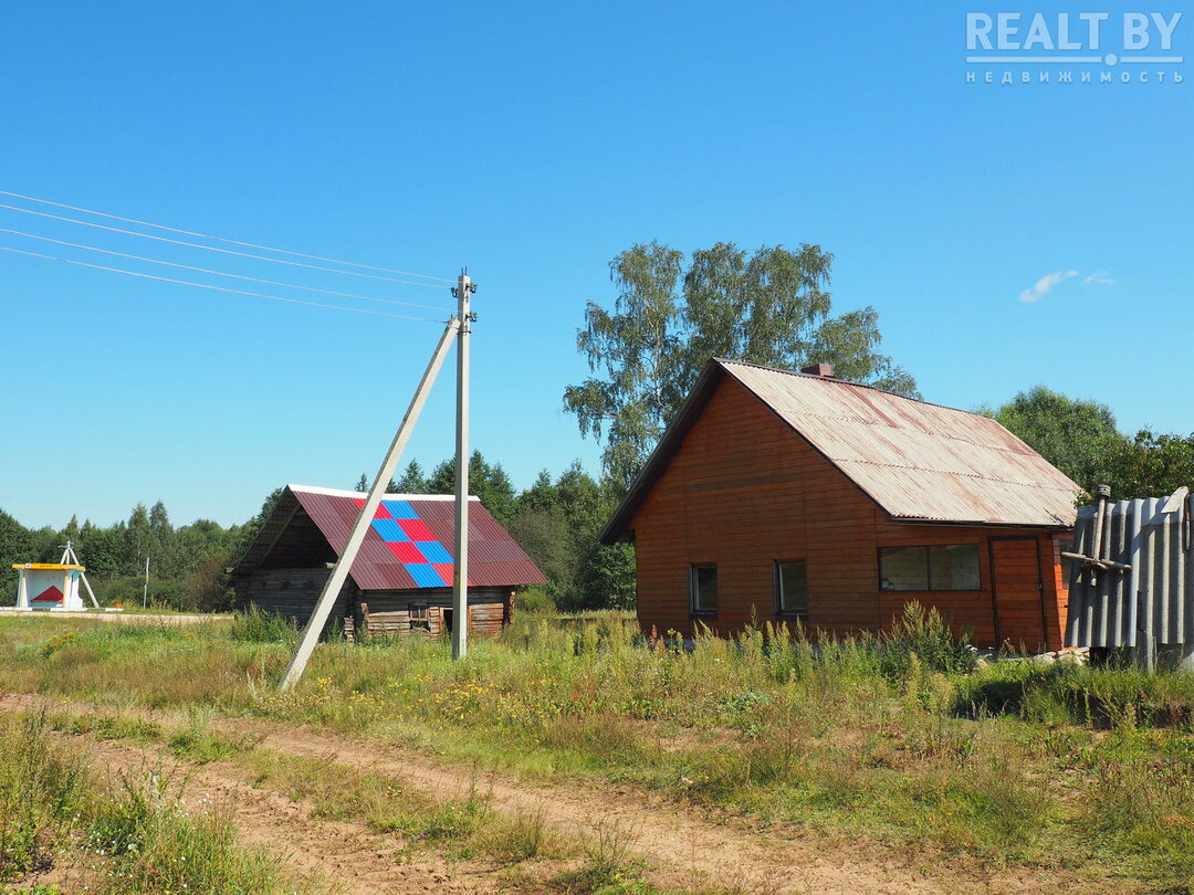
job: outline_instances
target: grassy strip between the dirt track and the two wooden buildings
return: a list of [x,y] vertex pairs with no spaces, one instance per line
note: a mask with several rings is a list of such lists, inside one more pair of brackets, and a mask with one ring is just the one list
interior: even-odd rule
[[[424,640],[322,644],[284,696],[293,629],[267,617],[62,628],[0,619],[0,686],[307,722],[830,835],[1194,890],[1194,677],[972,671],[967,644],[915,607],[881,640],[814,647],[763,625],[691,650],[644,642],[620,613],[524,612],[464,662]],[[176,748],[236,749],[203,736]]]

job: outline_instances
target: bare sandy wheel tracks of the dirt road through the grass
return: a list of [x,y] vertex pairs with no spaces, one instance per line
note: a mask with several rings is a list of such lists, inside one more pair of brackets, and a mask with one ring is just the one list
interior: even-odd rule
[[[87,704],[63,704],[30,696],[0,696],[0,709],[48,705],[54,710],[96,711]],[[128,714],[128,712],[125,712]],[[140,712],[167,726],[176,716]],[[458,797],[476,785],[497,810],[515,815],[542,813],[547,826],[570,837],[591,835],[598,825],[617,823],[633,837],[636,854],[656,865],[660,883],[681,889],[718,885],[744,893],[824,893],[825,895],[930,895],[936,893],[1041,893],[1063,881],[1057,875],[1027,871],[987,874],[971,865],[924,866],[918,857],[884,857],[872,845],[857,847],[819,835],[783,837],[751,829],[736,819],[707,819],[691,807],[647,797],[636,790],[602,789],[589,783],[536,786],[499,773],[476,776],[469,769],[444,765],[426,755],[380,740],[357,740],[300,726],[252,720],[217,718],[214,730],[236,736],[251,734],[258,745],[290,755],[369,767],[439,798]],[[128,757],[130,749],[103,743],[105,754]],[[220,763],[193,772],[192,785],[214,788],[235,806],[236,821],[248,842],[278,844],[279,834],[293,851],[290,863],[301,871],[324,872],[341,879],[351,893],[496,891],[493,876],[480,868],[461,877],[462,868],[416,862],[394,878],[390,854],[399,847],[356,825],[333,825],[309,816],[309,810],[276,794],[263,792],[236,778]],[[332,872],[334,871],[334,872]],[[413,875],[413,876],[410,876]],[[408,878],[410,876],[410,878]],[[416,888],[411,888],[411,887]],[[431,885],[431,889],[418,888]],[[406,887],[406,888],[401,888]],[[464,888],[450,888],[464,887]],[[1089,883],[1087,891],[1097,891]],[[1124,891],[1124,889],[1119,889]]]

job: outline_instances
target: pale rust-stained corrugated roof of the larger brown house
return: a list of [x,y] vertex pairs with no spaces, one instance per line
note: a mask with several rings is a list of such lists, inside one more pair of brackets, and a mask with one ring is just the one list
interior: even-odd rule
[[995,420],[825,376],[713,359],[602,533],[620,537],[716,387],[741,383],[896,519],[1067,529],[1082,488]]

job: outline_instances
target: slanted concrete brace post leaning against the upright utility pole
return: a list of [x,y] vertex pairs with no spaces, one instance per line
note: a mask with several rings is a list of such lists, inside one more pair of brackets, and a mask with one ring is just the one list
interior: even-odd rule
[[357,551],[365,539],[365,535],[373,523],[374,513],[377,512],[377,505],[381,504],[381,498],[386,493],[386,486],[389,484],[389,480],[398,468],[398,461],[401,458],[402,451],[406,449],[406,443],[411,438],[411,432],[414,431],[414,424],[419,419],[419,413],[427,402],[431,385],[435,383],[439,368],[443,366],[444,357],[448,354],[448,348],[451,346],[451,337],[458,329],[460,322],[453,317],[448,321],[448,326],[444,327],[443,335],[439,337],[439,342],[431,354],[431,362],[427,364],[427,369],[419,381],[419,387],[414,390],[414,397],[411,399],[411,406],[407,407],[406,415],[402,416],[402,422],[399,424],[398,432],[394,433],[394,440],[390,442],[386,459],[382,461],[381,469],[377,470],[377,477],[374,479],[373,488],[369,489],[365,505],[361,507],[361,514],[357,516],[352,532],[349,535],[349,541],[340,553],[340,558],[332,567],[332,573],[327,576],[327,582],[324,585],[324,591],[319,594],[315,609],[310,613],[310,618],[307,619],[307,626],[302,629],[302,640],[298,642],[298,649],[295,652],[294,659],[290,660],[290,665],[287,667],[287,673],[278,684],[278,689],[283,691],[293,687],[302,678],[303,669],[310,660],[310,654],[315,650],[315,644],[324,632],[324,625],[327,624],[327,617],[332,613],[332,606],[336,605],[336,598],[349,578],[349,569],[352,568],[352,561],[357,558]]

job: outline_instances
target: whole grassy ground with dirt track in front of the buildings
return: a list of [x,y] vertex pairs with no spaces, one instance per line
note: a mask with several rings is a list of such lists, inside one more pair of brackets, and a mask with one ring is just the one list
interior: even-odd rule
[[693,649],[617,613],[439,642],[0,619],[0,891],[1194,893],[1194,675],[910,613]]

